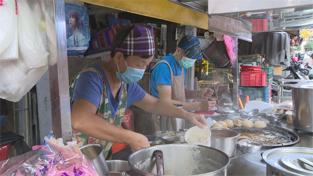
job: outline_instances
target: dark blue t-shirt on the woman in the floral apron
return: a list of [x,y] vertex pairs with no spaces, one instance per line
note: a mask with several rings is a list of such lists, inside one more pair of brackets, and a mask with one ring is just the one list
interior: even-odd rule
[[[112,94],[109,81],[102,67],[98,64],[93,64],[91,66],[100,70],[104,77],[106,94],[108,96],[109,101],[108,103],[110,106],[112,117],[114,118],[119,107],[119,102],[121,101],[122,91],[121,89],[119,90],[118,101],[116,101]],[[128,109],[129,106],[131,106],[131,104],[133,104],[134,102],[140,101],[143,99],[143,97],[146,96],[146,92],[137,83],[127,84],[126,88],[127,88],[126,109]],[[76,99],[87,100],[98,108],[99,103],[101,101],[102,93],[103,93],[103,82],[100,75],[98,75],[94,71],[86,71],[80,75],[76,82],[71,99],[71,108],[74,100]]]

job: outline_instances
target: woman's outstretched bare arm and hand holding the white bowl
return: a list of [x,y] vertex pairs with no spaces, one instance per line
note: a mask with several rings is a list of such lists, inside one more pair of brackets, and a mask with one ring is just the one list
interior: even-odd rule
[[146,94],[143,99],[133,104],[147,112],[189,120],[200,128],[203,128],[207,125],[207,121],[202,114],[187,112],[183,109],[173,106],[167,101],[162,101],[149,94]]

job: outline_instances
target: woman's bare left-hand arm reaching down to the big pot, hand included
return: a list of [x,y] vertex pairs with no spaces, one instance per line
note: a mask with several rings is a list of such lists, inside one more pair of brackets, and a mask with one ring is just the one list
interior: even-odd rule
[[73,128],[97,139],[126,143],[133,151],[150,146],[148,139],[142,134],[116,127],[95,115],[96,111],[97,107],[89,101],[75,100],[71,110]]

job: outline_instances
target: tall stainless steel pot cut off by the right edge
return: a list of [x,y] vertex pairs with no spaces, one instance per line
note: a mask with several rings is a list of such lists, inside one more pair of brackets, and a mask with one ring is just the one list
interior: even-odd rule
[[294,127],[313,132],[313,83],[291,85]]

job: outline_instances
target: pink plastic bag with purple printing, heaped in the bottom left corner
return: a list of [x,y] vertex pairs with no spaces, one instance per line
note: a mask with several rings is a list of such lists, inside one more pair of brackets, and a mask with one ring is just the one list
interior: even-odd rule
[[90,160],[77,146],[59,147],[52,143],[0,162],[1,175],[98,176]]

